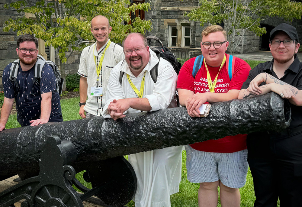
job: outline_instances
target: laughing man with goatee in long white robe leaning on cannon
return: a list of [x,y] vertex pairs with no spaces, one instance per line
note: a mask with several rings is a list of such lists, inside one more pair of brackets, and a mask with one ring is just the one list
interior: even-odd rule
[[[127,35],[123,47],[125,60],[112,69],[109,77],[104,117],[117,120],[128,113],[176,107],[177,74],[172,65],[159,60],[140,33]],[[158,76],[154,82],[150,70],[156,64]],[[178,192],[181,181],[181,160],[182,146],[129,155],[137,176],[136,207],[171,206],[170,195]]]

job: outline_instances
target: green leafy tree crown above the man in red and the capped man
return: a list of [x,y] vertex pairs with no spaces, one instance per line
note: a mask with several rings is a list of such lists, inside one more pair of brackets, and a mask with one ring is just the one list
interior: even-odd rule
[[200,21],[202,26],[223,22],[231,53],[241,44],[246,31],[258,36],[266,33],[260,21],[275,16],[292,21],[302,15],[302,4],[291,0],[199,0],[199,4],[199,8],[184,15],[191,21]]

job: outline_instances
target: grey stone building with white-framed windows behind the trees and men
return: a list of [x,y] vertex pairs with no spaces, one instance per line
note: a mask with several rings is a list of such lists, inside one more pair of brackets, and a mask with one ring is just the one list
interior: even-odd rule
[[[17,59],[15,52],[16,40],[18,37],[15,32],[3,32],[3,24],[9,18],[16,18],[19,14],[13,9],[4,9],[4,4],[9,4],[13,0],[0,0],[0,91],[2,90],[2,70],[5,66]],[[145,2],[145,0],[132,0],[132,3]],[[151,3],[150,11],[136,11],[131,14],[132,18],[140,16],[146,20],[152,21],[152,31],[147,35],[155,35],[160,38],[162,43],[169,47],[178,58],[195,57],[200,52],[201,32],[204,27],[200,22],[189,21],[184,16],[184,12],[191,11],[198,7],[198,0],[146,0]],[[268,38],[270,31],[278,24],[284,22],[280,18],[269,18],[261,22],[262,27],[267,28],[267,33],[262,37],[256,36],[252,32],[246,32],[243,41],[236,49],[236,53],[249,53],[257,50],[269,50]],[[299,39],[302,39],[302,21],[294,20],[292,25],[297,28]],[[154,45],[154,43],[151,43]],[[56,61],[53,48],[45,48],[41,42],[39,52],[48,59]],[[66,74],[76,73],[79,67],[79,53],[74,53],[68,58]],[[59,65],[59,64],[58,64]]]

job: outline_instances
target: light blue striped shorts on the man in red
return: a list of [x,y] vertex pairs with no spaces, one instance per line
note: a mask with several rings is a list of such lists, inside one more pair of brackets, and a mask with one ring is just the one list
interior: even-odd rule
[[246,183],[247,149],[233,153],[204,152],[185,146],[188,180],[191,183],[211,183],[220,180],[230,188]]

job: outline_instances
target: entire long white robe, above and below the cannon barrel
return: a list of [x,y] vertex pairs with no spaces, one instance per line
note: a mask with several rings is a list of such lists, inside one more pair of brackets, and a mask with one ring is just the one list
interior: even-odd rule
[[[143,98],[148,99],[152,108],[151,111],[176,107],[177,74],[172,65],[161,58],[157,81],[154,84],[150,76],[150,70],[159,60],[152,50],[149,51],[149,63],[137,77],[133,76],[126,61],[118,63],[112,69],[106,93],[106,105],[104,106],[105,118],[110,118],[107,108],[113,99],[137,97],[127,80],[126,73],[129,74],[131,81],[139,90],[146,71]],[[120,71],[125,73],[121,84],[119,82]],[[141,111],[129,108],[125,113],[137,112]],[[171,206],[170,195],[178,192],[181,181],[182,149],[183,146],[168,147],[129,155],[129,162],[137,176],[135,207]]]

